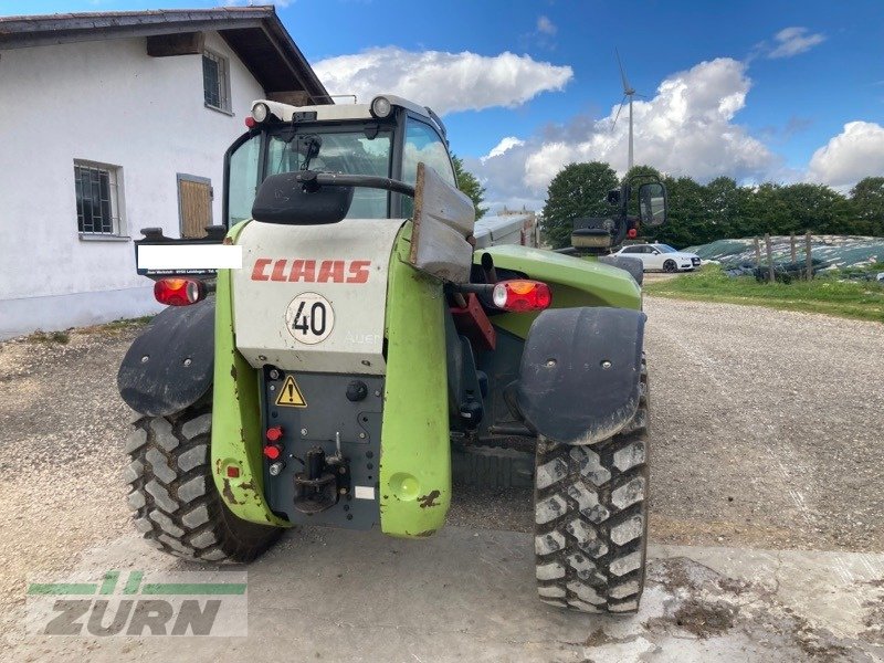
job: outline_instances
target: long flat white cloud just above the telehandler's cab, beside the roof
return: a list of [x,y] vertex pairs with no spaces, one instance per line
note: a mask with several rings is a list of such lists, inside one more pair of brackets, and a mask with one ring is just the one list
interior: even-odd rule
[[464,51],[410,52],[397,46],[328,57],[314,65],[329,94],[355,94],[360,103],[397,94],[439,114],[515,107],[543,92],[559,91],[573,77],[570,66],[537,62],[509,52],[495,56]]

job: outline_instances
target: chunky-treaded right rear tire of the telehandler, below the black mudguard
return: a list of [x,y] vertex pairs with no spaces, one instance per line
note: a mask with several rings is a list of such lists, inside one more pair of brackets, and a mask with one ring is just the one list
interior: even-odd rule
[[631,613],[648,547],[648,369],[632,421],[591,446],[540,439],[535,473],[537,592],[550,606]]

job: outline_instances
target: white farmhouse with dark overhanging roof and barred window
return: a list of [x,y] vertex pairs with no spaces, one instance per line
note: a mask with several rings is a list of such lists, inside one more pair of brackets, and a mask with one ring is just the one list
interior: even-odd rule
[[158,311],[133,240],[221,222],[256,98],[332,101],[272,7],[0,18],[0,338]]

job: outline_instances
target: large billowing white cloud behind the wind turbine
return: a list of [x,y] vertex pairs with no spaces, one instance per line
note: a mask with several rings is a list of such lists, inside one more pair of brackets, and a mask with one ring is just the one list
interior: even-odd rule
[[[702,62],[669,76],[653,98],[633,104],[635,164],[701,181],[720,175],[754,179],[771,172],[779,159],[734,122],[750,85],[746,65],[730,59]],[[487,182],[490,202],[526,197],[539,201],[552,177],[571,162],[607,161],[622,173],[629,122],[623,109],[613,126],[617,109],[613,106],[600,119],[576,116],[568,124],[548,126],[523,145],[508,140],[508,149],[492,155],[495,148],[466,166]]]

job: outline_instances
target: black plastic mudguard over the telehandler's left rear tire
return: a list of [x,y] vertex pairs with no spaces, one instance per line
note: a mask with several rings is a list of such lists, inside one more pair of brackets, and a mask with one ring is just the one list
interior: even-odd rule
[[214,297],[169,306],[135,339],[117,373],[119,396],[148,417],[180,412],[212,387]]

